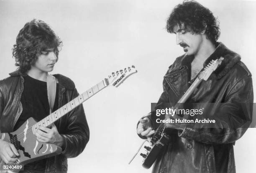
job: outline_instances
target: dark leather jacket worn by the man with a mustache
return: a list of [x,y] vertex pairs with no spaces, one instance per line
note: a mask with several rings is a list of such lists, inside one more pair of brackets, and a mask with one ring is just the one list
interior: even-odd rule
[[[233,145],[252,121],[253,86],[251,73],[240,61],[241,57],[217,43],[214,53],[205,61],[204,67],[211,61],[223,57],[222,64],[202,81],[187,102],[204,106],[211,103],[211,114],[215,117],[214,127],[194,127],[194,124],[177,127],[170,135],[175,139],[164,147],[156,159],[153,173],[235,173]],[[156,108],[163,103],[177,103],[182,94],[195,79],[191,77],[191,62],[194,56],[180,56],[169,67],[164,76],[164,92]],[[221,103],[221,107],[218,104]],[[245,107],[241,107],[241,103]],[[225,108],[225,109],[224,109]],[[246,110],[245,110],[246,109]],[[227,111],[228,110],[228,111]],[[154,113],[150,114],[152,125],[156,129]],[[242,128],[241,128],[242,127]]]

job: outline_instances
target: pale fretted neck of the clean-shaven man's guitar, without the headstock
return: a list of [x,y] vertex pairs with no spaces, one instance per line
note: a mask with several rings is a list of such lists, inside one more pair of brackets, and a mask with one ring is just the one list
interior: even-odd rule
[[72,109],[77,107],[79,104],[82,104],[85,100],[89,99],[93,95],[95,95],[100,90],[104,89],[109,85],[108,79],[104,79],[100,81],[98,84],[93,86],[92,88],[88,89],[83,94],[80,94],[78,97],[74,98],[64,106],[60,107],[58,110],[52,112],[47,117],[42,119],[41,121],[37,122],[35,125],[32,126],[33,133],[37,130],[39,126],[47,127],[51,125],[56,120],[59,120],[62,116],[70,112]]

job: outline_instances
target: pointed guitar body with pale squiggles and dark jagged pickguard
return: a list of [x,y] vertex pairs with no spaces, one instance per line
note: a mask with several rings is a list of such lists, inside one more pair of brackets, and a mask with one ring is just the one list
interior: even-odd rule
[[[33,134],[32,127],[36,121],[31,117],[15,132],[0,133],[0,139],[12,143],[18,150],[16,165],[25,165],[36,160],[41,160],[61,153],[62,149],[54,144],[38,142]],[[0,164],[5,164],[0,159]],[[0,171],[1,173],[1,171]]]

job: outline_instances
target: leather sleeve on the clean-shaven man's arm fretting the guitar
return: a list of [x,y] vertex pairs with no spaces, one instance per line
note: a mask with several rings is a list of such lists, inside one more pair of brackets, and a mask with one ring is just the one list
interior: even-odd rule
[[[71,99],[78,95],[77,90],[74,89]],[[66,155],[67,158],[73,158],[82,153],[89,141],[90,135],[82,104],[67,114],[66,130],[61,135],[64,137],[64,150],[62,154]]]

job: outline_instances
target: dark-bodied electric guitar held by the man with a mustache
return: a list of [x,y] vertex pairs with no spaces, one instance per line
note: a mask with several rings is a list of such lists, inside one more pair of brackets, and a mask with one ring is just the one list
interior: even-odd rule
[[[192,83],[192,85],[187,89],[187,91],[182,95],[182,97],[179,99],[177,103],[184,103],[187,101],[187,99],[190,97],[190,95],[194,92],[196,87],[201,83],[202,80],[207,80],[209,76],[212,74],[215,69],[217,69],[218,66],[220,66],[221,62],[223,61],[223,57],[220,57],[220,59],[212,60],[203,71],[200,72],[200,74],[197,76],[195,81]],[[175,106],[174,106],[175,107]],[[172,107],[173,109],[173,107]],[[173,118],[179,118],[177,115],[174,115]],[[138,152],[144,145],[144,148],[146,150],[146,153],[141,153],[140,155],[144,158],[142,166],[144,168],[150,168],[153,163],[155,162],[157,156],[159,155],[161,149],[166,145],[170,140],[171,136],[166,133],[166,125],[165,123],[161,123],[159,127],[156,129],[156,132],[154,133],[153,137],[151,138],[151,145],[146,146],[144,143],[147,141],[145,140],[141,147],[139,148]],[[138,152],[133,156],[138,154]],[[133,160],[132,158],[132,160]],[[131,161],[132,161],[131,160]],[[129,163],[131,163],[131,161]]]

